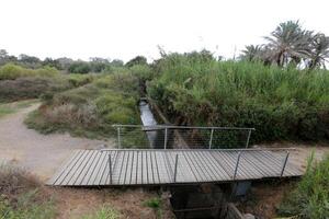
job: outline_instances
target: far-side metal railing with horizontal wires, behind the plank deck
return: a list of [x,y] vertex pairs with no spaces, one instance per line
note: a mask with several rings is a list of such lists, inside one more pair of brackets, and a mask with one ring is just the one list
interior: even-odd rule
[[248,148],[254,128],[113,125],[117,148]]

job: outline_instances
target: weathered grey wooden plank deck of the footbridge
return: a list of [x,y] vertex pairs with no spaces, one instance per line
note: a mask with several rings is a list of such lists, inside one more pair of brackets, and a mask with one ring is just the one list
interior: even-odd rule
[[[241,155],[235,174],[239,153]],[[302,175],[303,172],[287,160],[281,176],[285,158],[284,151],[277,153],[269,150],[77,150],[47,184],[198,184]]]

